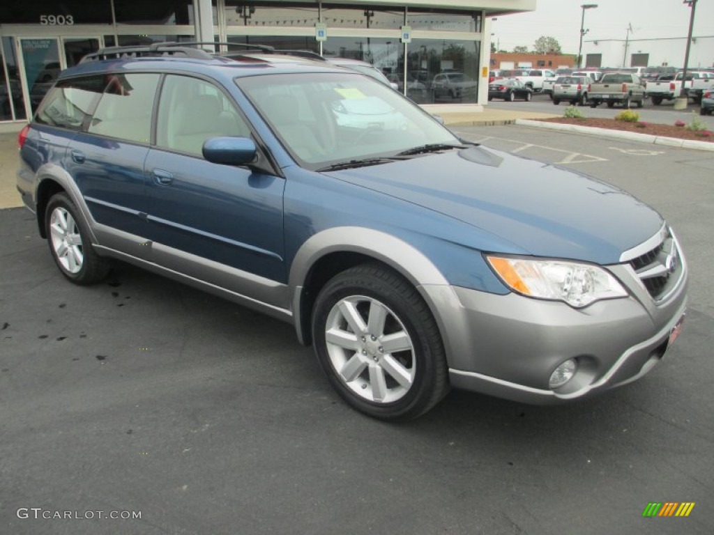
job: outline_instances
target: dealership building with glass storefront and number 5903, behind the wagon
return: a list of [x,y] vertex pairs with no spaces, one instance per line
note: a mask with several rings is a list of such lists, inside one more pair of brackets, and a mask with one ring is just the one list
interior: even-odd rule
[[169,41],[361,59],[429,107],[476,110],[488,91],[491,17],[533,9],[535,0],[5,0],[0,129],[26,122],[59,72],[85,54]]

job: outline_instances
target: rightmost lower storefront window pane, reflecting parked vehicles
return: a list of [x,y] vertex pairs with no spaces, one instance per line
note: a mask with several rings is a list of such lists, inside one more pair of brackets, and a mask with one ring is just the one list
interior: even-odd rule
[[478,41],[412,39],[408,86],[423,86],[424,103],[476,103],[479,47]]

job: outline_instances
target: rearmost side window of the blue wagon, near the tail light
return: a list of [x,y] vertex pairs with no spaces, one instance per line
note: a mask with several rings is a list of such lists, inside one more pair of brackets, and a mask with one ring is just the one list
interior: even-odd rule
[[47,93],[35,121],[80,130],[89,122],[103,89],[101,76],[61,81]]

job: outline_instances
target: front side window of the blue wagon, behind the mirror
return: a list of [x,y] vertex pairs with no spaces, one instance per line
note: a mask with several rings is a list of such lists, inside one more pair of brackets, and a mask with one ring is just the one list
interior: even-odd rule
[[208,138],[250,135],[233,103],[216,86],[190,76],[166,76],[159,103],[156,146],[201,156]]

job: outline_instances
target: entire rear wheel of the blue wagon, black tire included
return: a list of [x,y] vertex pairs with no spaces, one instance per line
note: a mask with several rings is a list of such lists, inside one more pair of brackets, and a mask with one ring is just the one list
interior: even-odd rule
[[49,250],[62,275],[79,285],[104,279],[111,264],[101,258],[89,240],[89,229],[66,193],[56,193],[45,209]]

